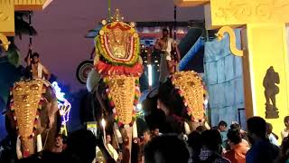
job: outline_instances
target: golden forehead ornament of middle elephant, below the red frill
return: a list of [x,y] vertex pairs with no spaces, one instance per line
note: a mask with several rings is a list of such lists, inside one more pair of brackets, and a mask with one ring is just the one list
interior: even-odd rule
[[133,119],[135,81],[138,77],[114,75],[106,77],[111,99],[115,104],[118,120],[129,124]]

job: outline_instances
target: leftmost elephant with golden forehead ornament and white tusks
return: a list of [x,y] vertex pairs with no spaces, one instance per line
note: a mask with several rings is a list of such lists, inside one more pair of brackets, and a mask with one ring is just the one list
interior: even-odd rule
[[42,149],[51,150],[61,127],[51,84],[38,79],[15,82],[7,103],[6,129],[17,158],[27,158]]

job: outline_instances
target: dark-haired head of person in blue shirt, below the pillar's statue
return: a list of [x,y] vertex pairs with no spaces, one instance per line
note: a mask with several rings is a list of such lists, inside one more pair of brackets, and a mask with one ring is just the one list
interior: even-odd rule
[[251,144],[254,144],[258,139],[266,139],[266,121],[261,117],[248,119],[247,133]]

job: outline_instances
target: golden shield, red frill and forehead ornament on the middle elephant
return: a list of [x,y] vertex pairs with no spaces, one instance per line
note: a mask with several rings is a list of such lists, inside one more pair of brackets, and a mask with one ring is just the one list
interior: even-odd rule
[[135,23],[126,24],[117,9],[111,22],[95,38],[97,72],[106,83],[110,107],[119,126],[133,125],[139,97],[138,78],[143,72],[139,56],[139,37]]

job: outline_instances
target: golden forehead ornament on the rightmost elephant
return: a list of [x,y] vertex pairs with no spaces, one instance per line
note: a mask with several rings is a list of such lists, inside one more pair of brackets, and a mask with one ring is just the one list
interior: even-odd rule
[[205,90],[200,76],[196,72],[176,72],[172,75],[172,84],[181,91],[185,99],[188,114],[192,120],[203,120]]

